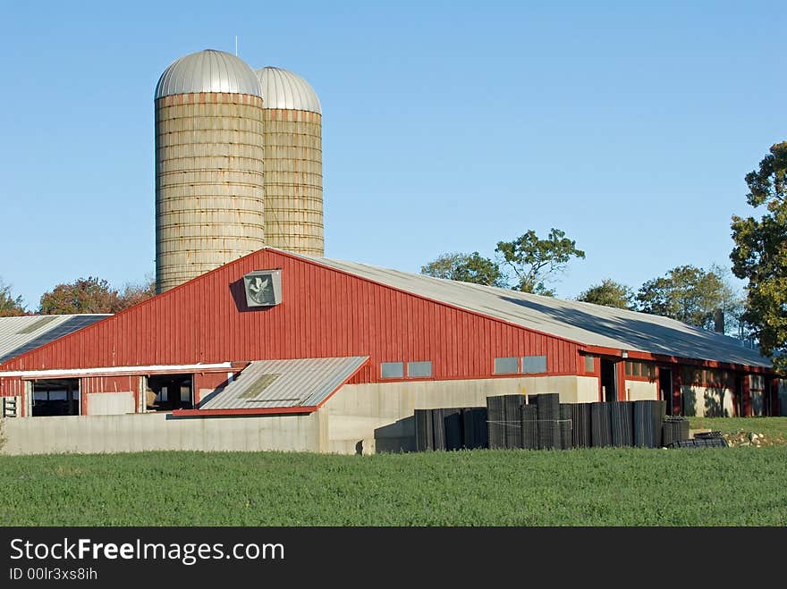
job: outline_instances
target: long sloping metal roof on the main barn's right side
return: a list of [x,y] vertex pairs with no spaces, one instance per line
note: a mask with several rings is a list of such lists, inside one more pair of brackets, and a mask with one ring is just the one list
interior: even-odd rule
[[740,340],[663,316],[432,278],[356,262],[301,257],[428,299],[588,346],[771,366],[771,361],[760,355],[759,350],[744,347]]

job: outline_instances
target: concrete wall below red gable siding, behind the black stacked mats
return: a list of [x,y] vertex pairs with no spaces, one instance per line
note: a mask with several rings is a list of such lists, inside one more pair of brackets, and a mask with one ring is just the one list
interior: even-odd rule
[[487,397],[557,392],[562,403],[598,400],[592,376],[487,378],[413,383],[345,384],[326,414],[328,448],[337,453],[415,449],[415,409],[485,407]]

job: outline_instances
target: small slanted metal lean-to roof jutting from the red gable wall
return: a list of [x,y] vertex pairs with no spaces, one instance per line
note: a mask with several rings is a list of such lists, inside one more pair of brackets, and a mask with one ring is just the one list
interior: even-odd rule
[[222,391],[206,397],[199,409],[314,407],[367,360],[368,356],[256,360]]

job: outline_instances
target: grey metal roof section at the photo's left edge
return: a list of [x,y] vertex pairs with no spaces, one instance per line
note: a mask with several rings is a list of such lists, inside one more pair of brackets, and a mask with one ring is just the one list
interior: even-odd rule
[[104,317],[108,315],[0,317],[0,364]]

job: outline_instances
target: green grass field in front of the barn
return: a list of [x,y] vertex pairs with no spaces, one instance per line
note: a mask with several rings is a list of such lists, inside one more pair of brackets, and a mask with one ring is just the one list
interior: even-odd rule
[[0,458],[0,526],[785,526],[787,446]]

